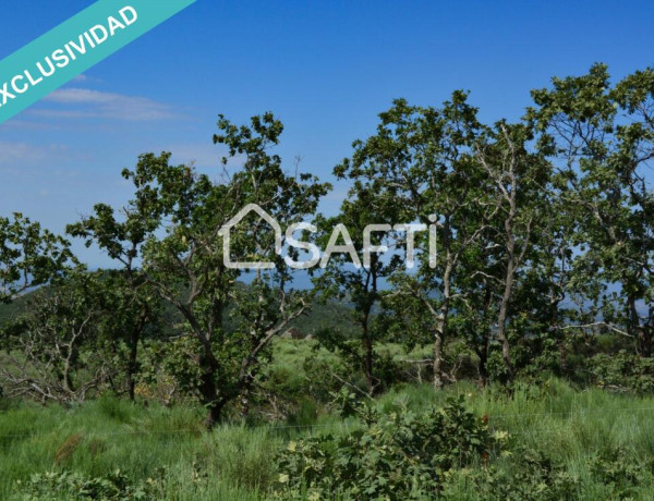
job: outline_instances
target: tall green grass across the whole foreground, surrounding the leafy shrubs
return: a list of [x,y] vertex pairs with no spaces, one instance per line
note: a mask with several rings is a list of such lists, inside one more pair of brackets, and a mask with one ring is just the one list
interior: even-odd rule
[[[420,410],[438,406],[452,394],[464,395],[470,410],[487,415],[492,428],[507,430],[513,447],[533,448],[564,463],[582,480],[574,499],[614,499],[611,486],[595,481],[590,472],[598,452],[623,448],[634,465],[654,457],[653,398],[579,392],[550,380],[542,388],[519,387],[510,399],[465,383],[438,393],[426,384],[409,386],[386,393],[377,406],[389,408],[399,400]],[[76,472],[92,478],[117,469],[133,482],[159,482],[160,499],[262,499],[277,475],[276,451],[289,440],[361,426],[322,413],[307,426],[226,424],[207,432],[201,411],[112,399],[69,410],[5,405],[0,413],[0,499],[23,499],[17,492],[35,473]],[[500,469],[511,468],[509,459],[492,461]],[[634,499],[652,499],[652,492],[649,474]],[[465,485],[450,496],[477,499]]]

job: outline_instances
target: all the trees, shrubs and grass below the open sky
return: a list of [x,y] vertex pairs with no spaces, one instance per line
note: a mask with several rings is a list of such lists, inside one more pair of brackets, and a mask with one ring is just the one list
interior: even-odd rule
[[[654,70],[532,97],[494,124],[460,90],[396,100],[329,217],[264,113],[219,118],[218,180],[144,154],[130,201],[65,235],[0,218],[0,496],[650,499]],[[226,255],[249,204],[356,255],[294,286],[303,254],[256,213]]]

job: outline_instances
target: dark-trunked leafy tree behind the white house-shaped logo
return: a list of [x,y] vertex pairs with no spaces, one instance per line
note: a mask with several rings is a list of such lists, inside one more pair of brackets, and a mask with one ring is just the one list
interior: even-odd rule
[[[288,270],[256,221],[231,229],[230,253],[249,254],[249,260],[275,257],[277,268],[257,272],[250,286],[237,282],[241,270],[226,265],[220,230],[247,204],[257,204],[281,224],[298,222],[315,210],[328,187],[310,174],[286,174],[279,156],[268,154],[283,130],[271,113],[254,117],[251,126],[220,117],[218,126],[215,143],[225,144],[230,157],[245,159],[231,176],[226,171],[222,182],[187,166],[170,166],[168,155],[144,156],[134,171],[123,174],[134,183],[135,200],[165,229],[165,234],[149,235],[143,269],[194,340],[197,370],[187,382],[207,407],[208,426],[249,391],[270,341],[307,307],[303,294],[288,290]],[[247,322],[229,331],[227,315]]]

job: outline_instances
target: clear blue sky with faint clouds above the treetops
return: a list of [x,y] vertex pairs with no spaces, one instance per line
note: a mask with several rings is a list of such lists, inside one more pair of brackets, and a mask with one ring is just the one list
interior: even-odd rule
[[[10,0],[0,59],[92,3]],[[124,203],[120,171],[144,151],[218,176],[218,113],[274,111],[289,167],[300,156],[329,180],[396,97],[437,106],[463,88],[483,119],[516,119],[554,75],[601,61],[617,80],[652,65],[653,21],[651,1],[198,0],[0,124],[0,215],[61,231],[97,201]],[[342,195],[337,186],[323,208]]]

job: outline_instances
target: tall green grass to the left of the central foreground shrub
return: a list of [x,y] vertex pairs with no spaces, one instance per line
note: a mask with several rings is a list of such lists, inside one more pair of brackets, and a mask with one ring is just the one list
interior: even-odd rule
[[[33,473],[101,477],[120,469],[144,480],[160,467],[166,468],[165,499],[261,499],[261,489],[275,475],[280,447],[311,432],[341,432],[346,426],[324,416],[313,429],[226,424],[207,432],[202,420],[202,408],[145,407],[106,398],[70,410],[9,406],[0,412],[0,499],[12,499],[16,481]],[[202,489],[194,488],[196,468],[206,476]]]

